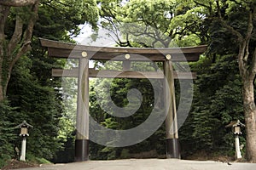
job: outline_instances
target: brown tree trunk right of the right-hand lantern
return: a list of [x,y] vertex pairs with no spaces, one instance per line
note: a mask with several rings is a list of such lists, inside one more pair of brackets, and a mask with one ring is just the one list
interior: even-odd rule
[[[241,42],[238,54],[238,64],[242,78],[243,111],[247,133],[246,156],[247,161],[254,163],[256,163],[256,106],[253,82],[256,76],[256,48],[254,47],[253,53],[250,54],[249,43],[252,38],[255,14],[256,11],[252,8],[248,14],[247,34],[244,38],[241,38],[241,34],[235,31],[237,37],[239,37],[239,42]],[[251,58],[251,61],[249,58]]]

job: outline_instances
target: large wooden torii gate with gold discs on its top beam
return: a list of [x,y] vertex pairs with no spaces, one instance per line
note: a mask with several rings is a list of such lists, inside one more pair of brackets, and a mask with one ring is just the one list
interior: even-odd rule
[[[79,59],[79,68],[73,70],[53,69],[54,77],[78,77],[78,107],[75,140],[75,161],[89,159],[89,77],[98,77],[98,71],[89,69],[89,60],[119,60],[123,63],[123,71],[101,71],[101,77],[119,78],[157,78],[166,77],[166,157],[180,158],[177,112],[175,103],[174,79],[195,78],[195,73],[175,72],[172,62],[197,61],[207,46],[189,48],[109,48],[77,45],[66,42],[55,42],[40,39],[41,45],[48,48],[48,55],[56,58]],[[184,56],[184,57],[183,57]],[[153,61],[164,63],[164,74],[157,71],[131,71],[131,61]],[[115,75],[115,76],[113,76]],[[116,76],[117,75],[117,76]]]

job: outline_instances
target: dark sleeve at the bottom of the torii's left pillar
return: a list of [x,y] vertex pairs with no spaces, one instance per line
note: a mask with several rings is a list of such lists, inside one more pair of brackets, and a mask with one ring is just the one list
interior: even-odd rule
[[76,139],[75,140],[75,161],[89,160],[89,140]]

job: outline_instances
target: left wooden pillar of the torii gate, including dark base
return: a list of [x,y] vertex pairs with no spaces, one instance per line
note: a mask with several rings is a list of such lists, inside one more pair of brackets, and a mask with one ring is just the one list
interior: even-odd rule
[[89,59],[86,52],[82,56],[79,59],[75,161],[89,159]]

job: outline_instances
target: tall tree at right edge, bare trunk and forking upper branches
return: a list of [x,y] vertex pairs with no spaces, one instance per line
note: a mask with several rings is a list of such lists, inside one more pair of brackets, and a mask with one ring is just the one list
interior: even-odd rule
[[223,23],[224,27],[226,27],[226,29],[232,32],[234,36],[236,36],[238,42],[239,51],[237,57],[242,80],[244,116],[247,125],[247,159],[249,161],[256,162],[256,106],[254,99],[256,47],[255,43],[252,45],[253,26],[256,21],[256,3],[255,1],[245,1],[241,4],[238,3],[238,5],[241,5],[241,9],[244,10],[244,12],[247,14],[247,31],[245,34],[237,31],[236,28],[229,26],[222,18],[219,11],[220,9],[218,9],[218,17],[219,20],[221,20]]

